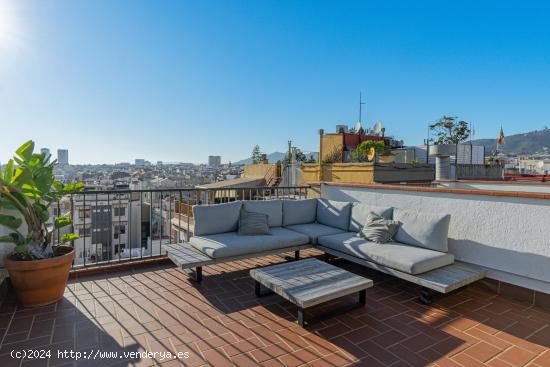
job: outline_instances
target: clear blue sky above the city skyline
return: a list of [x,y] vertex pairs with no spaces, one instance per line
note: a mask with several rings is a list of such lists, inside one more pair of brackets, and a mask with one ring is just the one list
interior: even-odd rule
[[547,1],[0,0],[0,161],[206,162],[318,149],[380,120],[420,144],[443,114],[496,138],[550,125]]

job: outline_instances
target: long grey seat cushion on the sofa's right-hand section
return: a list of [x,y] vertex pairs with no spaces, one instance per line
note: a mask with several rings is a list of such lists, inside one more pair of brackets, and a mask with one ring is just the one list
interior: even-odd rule
[[409,274],[425,273],[454,262],[449,253],[398,242],[377,244],[354,232],[322,236],[318,241],[322,246]]

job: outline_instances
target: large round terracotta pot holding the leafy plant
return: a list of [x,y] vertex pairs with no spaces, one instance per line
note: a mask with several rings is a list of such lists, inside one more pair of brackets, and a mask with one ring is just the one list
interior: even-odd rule
[[74,260],[74,249],[60,246],[57,253],[60,255],[45,260],[18,261],[6,258],[4,265],[23,306],[44,306],[63,298]]

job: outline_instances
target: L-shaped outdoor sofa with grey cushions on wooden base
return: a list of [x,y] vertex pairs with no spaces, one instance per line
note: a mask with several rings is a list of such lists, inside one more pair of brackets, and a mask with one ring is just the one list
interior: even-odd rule
[[[240,235],[241,208],[269,216],[269,235]],[[370,212],[401,223],[393,242],[377,244],[357,235]],[[448,252],[450,216],[368,203],[326,199],[235,201],[195,205],[194,236],[189,243],[166,246],[182,269],[315,247],[326,258],[340,257],[423,286],[421,299],[431,292],[448,293],[485,276],[479,267],[455,262]]]

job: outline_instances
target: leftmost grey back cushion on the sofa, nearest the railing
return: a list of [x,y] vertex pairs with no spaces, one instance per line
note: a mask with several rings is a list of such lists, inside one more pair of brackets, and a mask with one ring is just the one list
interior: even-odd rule
[[239,225],[239,213],[242,202],[233,201],[225,204],[194,205],[195,236],[234,232]]

